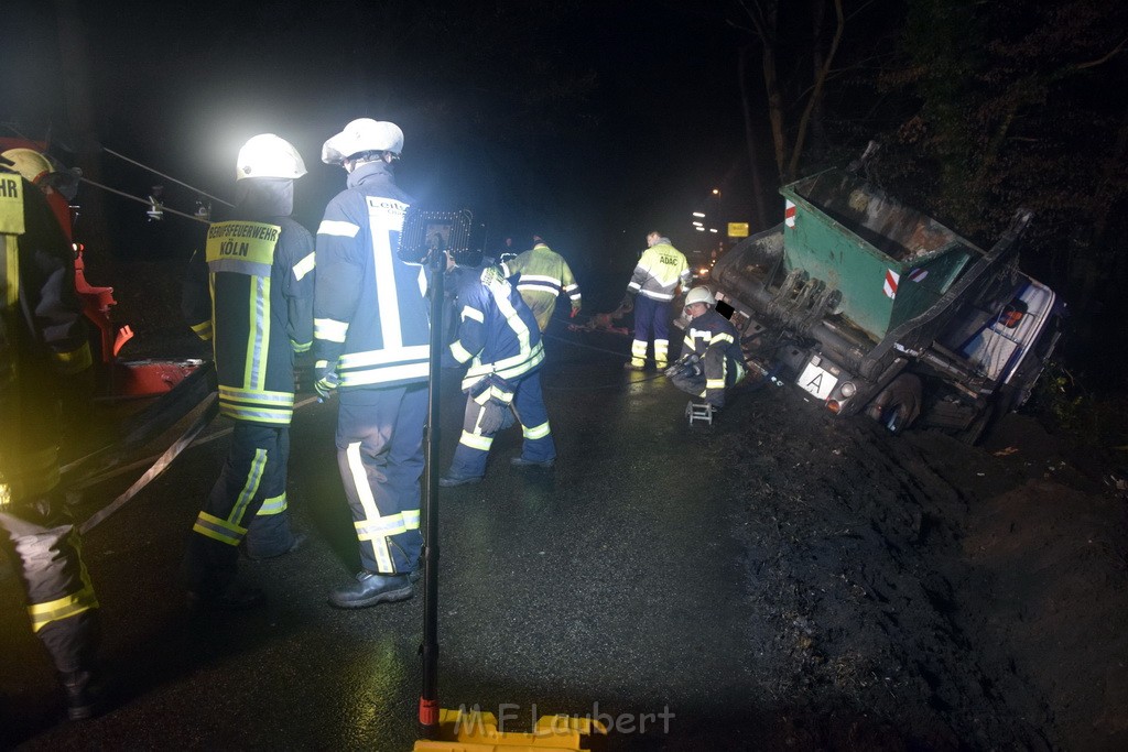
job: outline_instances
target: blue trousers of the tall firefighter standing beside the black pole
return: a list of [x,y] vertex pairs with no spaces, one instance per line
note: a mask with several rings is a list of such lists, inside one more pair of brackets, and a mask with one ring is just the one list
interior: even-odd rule
[[369,572],[411,572],[418,560],[426,409],[425,383],[341,393],[337,466]]

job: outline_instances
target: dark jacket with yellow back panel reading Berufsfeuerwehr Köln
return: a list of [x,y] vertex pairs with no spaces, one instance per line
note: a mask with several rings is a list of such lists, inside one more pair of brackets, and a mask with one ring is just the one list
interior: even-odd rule
[[294,354],[314,339],[314,239],[285,215],[285,196],[271,200],[283,184],[252,189],[254,219],[212,224],[204,250],[193,254],[184,313],[212,340],[220,413],[284,426],[293,417]]

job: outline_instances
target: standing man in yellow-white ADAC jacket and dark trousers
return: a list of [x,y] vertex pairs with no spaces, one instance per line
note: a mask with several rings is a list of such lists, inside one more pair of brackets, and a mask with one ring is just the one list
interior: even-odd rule
[[[638,258],[623,309],[634,308],[635,333],[631,343],[631,361],[624,368],[642,371],[646,366],[646,345],[654,336],[654,363],[664,370],[670,347],[670,301],[678,285],[689,286],[689,264],[670,239],[658,231],[646,236],[646,250]],[[637,299],[637,301],[633,300]]]

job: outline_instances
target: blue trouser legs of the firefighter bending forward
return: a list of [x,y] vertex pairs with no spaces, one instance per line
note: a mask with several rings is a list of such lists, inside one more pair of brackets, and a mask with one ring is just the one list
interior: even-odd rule
[[[525,442],[521,457],[531,462],[547,462],[556,458],[556,444],[548,426],[548,410],[545,409],[540,391],[540,371],[522,378],[513,392],[513,410],[521,422]],[[455,448],[455,459],[450,463],[450,475],[456,477],[483,476],[486,458],[496,433],[482,433],[479,422],[482,406],[473,397],[466,397],[466,414],[462,421],[462,436]]]

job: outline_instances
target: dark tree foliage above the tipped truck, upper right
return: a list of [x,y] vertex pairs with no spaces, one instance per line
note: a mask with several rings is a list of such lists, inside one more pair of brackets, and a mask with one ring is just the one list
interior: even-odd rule
[[899,104],[887,178],[981,240],[1032,209],[1028,258],[1090,297],[1123,272],[1125,21],[1102,0],[913,0],[876,81]]

